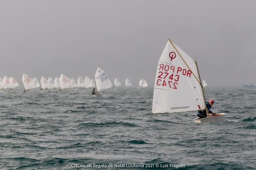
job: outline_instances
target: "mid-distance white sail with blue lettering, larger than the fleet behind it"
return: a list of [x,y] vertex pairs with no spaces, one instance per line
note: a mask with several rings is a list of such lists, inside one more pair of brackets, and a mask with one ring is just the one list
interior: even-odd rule
[[103,70],[101,70],[100,67],[98,67],[94,75],[94,78],[95,78],[96,89],[98,92],[113,87],[107,74]]

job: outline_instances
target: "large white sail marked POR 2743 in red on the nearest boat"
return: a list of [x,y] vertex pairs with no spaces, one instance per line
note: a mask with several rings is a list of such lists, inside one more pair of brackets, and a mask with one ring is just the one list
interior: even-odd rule
[[205,107],[196,63],[181,48],[173,45],[188,66],[169,40],[157,65],[153,114],[195,111]]

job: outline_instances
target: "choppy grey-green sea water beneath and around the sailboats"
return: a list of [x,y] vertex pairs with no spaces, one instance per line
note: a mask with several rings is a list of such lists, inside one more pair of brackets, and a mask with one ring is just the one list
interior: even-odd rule
[[150,115],[153,88],[1,92],[0,169],[255,169],[256,88],[206,87],[205,96],[212,111],[229,111],[225,122]]

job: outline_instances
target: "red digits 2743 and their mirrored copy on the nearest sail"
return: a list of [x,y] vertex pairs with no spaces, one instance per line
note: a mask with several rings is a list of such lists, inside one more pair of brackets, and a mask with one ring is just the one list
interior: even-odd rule
[[[177,81],[179,81],[179,78],[180,78],[180,76],[178,74],[176,74],[176,75],[173,75],[173,74],[169,75],[168,72],[162,72],[162,71],[159,71],[158,73],[159,73],[159,76],[157,78],[159,78],[159,79],[157,79],[156,85],[159,85],[159,86],[162,85],[163,87],[168,85],[172,89],[177,89],[177,85],[178,85]],[[162,80],[162,79],[165,79],[165,78],[169,78],[171,81],[169,81],[169,80],[166,80],[166,81]],[[175,82],[173,82],[173,80]]]

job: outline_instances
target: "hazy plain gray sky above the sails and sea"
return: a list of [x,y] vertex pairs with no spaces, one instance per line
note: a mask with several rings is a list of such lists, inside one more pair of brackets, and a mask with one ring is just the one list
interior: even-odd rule
[[209,86],[256,84],[256,1],[3,1],[0,77],[61,73],[153,87],[170,38]]

